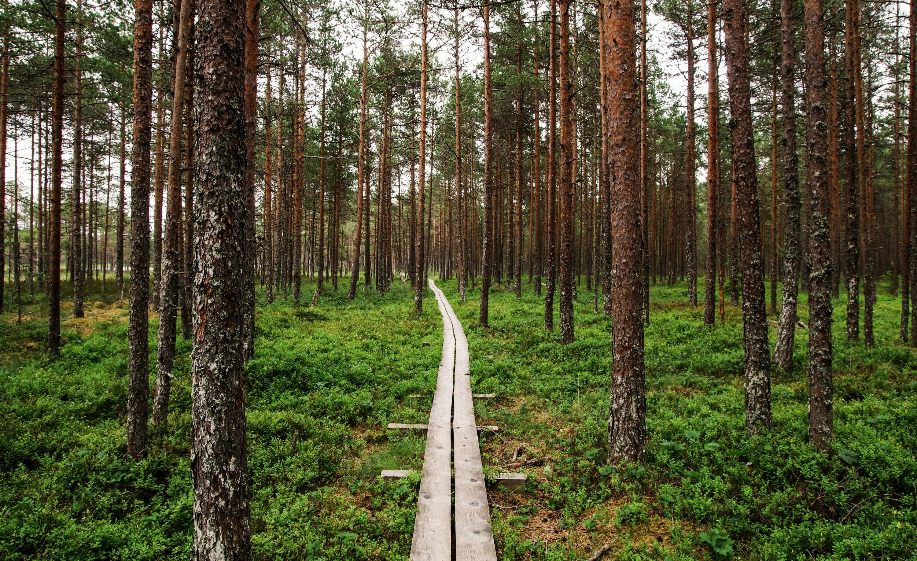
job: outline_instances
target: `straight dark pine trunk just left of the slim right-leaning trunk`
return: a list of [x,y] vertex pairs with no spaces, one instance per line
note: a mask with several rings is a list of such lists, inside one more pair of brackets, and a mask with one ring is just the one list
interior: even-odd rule
[[[63,0],[59,1],[62,5]],[[136,0],[134,11],[134,133],[130,158],[130,302],[127,326],[127,454],[138,457],[146,454],[147,451],[147,414],[149,411],[149,145],[153,97],[152,1]],[[60,198],[58,200],[60,201]],[[60,255],[60,245],[58,255]],[[58,271],[60,271],[60,260]],[[54,271],[51,272],[53,281]]]

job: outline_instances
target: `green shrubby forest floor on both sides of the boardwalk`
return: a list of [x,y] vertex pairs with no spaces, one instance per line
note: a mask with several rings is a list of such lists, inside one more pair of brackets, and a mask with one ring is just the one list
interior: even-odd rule
[[[887,283],[874,349],[846,340],[845,295],[834,301],[836,440],[826,455],[806,444],[804,329],[797,369],[773,375],[773,430],[751,437],[740,309],[727,305],[725,324],[707,329],[683,283],[653,287],[647,463],[624,468],[605,462],[611,321],[592,313],[585,282],[568,346],[545,333],[543,301],[525,283],[521,301],[494,288],[486,329],[479,290],[460,303],[455,281],[437,285],[469,338],[472,391],[497,395],[475,404],[479,424],[500,427],[482,434],[485,472],[528,475],[525,492],[490,492],[500,559],[584,559],[606,544],[606,558],[660,561],[917,555],[917,356],[898,342],[900,300]],[[417,476],[378,475],[423,462],[421,438],[385,426],[426,422],[441,318],[432,292],[417,317],[398,281],[385,296],[361,284],[353,302],[346,286],[329,286],[315,309],[282,297],[258,307],[246,372],[258,559],[410,551]],[[168,428],[151,426],[149,456],[127,459],[127,302],[110,281],[108,292],[87,289],[88,317],[64,322],[56,361],[41,353],[47,306],[27,299],[21,324],[15,311],[0,316],[0,560],[187,559],[191,345],[179,336]],[[803,295],[807,324],[806,314]],[[540,465],[507,466],[516,450]]]

